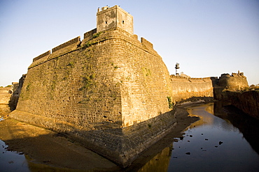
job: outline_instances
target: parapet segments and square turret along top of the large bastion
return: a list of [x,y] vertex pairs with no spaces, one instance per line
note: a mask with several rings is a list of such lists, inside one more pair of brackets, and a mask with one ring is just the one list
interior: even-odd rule
[[[107,31],[114,28],[122,29],[123,31],[130,33],[130,35],[133,35],[132,15],[123,10],[123,8],[120,8],[120,6],[113,6],[111,8],[109,8],[108,6],[104,6],[102,10],[98,8],[97,28],[84,33],[83,41],[87,42],[89,40],[92,40],[94,33],[100,33],[102,31]],[[133,37],[136,39],[138,38],[137,35],[133,35]],[[150,47],[151,49],[153,49],[153,44],[151,42],[148,42],[148,40],[141,38],[141,42],[143,43],[143,45],[146,45],[146,47]],[[64,42],[62,45],[58,45],[57,47],[52,48],[51,52],[49,50],[48,52],[45,52],[40,56],[33,58],[33,62],[35,63],[32,63],[29,68],[32,68],[35,65],[42,63],[43,61],[55,58],[56,56],[69,52],[72,49],[76,49],[77,47],[80,47],[80,43],[80,36]],[[41,61],[38,61],[39,59],[41,59]]]

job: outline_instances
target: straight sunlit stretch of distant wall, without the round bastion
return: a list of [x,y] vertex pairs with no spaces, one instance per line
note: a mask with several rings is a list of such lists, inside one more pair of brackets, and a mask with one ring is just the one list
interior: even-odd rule
[[171,75],[172,94],[179,102],[191,97],[214,97],[214,86],[210,77],[188,78]]

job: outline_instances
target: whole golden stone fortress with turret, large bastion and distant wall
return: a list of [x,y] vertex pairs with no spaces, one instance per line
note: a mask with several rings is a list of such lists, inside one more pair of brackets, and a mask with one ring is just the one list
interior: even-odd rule
[[[235,78],[235,81],[232,81]],[[11,118],[62,132],[121,166],[172,130],[174,104],[214,97],[215,86],[246,87],[244,75],[169,75],[133,17],[119,6],[97,12],[97,28],[33,59]],[[239,85],[240,88],[240,85]]]

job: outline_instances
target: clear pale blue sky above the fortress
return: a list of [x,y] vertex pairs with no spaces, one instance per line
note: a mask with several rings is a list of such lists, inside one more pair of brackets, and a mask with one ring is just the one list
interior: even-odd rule
[[134,34],[153,43],[170,75],[244,72],[259,84],[259,0],[0,0],[0,86],[19,81],[32,59],[96,28],[97,8],[118,5]]

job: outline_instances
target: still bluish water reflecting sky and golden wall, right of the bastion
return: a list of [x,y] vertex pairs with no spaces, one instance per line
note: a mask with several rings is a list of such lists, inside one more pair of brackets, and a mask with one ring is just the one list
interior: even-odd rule
[[258,171],[259,155],[239,129],[214,116],[214,110],[214,103],[188,108],[190,116],[201,120],[174,143],[168,171]]

